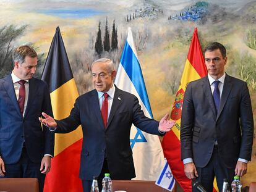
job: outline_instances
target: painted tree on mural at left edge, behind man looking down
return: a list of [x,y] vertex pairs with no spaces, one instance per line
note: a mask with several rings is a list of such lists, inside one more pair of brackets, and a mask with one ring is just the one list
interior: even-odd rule
[[15,25],[0,28],[0,78],[10,73],[13,69],[12,52],[14,41],[23,34],[27,25],[16,27]]

